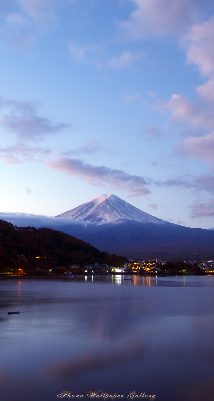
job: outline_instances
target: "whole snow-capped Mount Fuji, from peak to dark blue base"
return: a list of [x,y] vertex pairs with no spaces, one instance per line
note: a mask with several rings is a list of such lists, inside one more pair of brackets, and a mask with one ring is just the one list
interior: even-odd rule
[[56,218],[58,230],[130,259],[214,259],[214,231],[158,219],[113,194],[96,196]]

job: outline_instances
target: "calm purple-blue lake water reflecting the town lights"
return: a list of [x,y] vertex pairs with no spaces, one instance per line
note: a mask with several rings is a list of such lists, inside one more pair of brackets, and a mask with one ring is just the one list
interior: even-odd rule
[[1,401],[213,400],[214,277],[0,280],[0,387]]

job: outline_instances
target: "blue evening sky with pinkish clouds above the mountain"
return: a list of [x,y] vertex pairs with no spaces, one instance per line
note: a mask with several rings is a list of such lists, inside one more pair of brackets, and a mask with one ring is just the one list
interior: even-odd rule
[[0,0],[0,212],[214,227],[214,0]]

